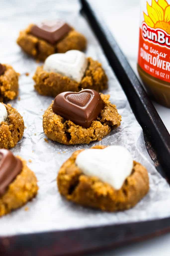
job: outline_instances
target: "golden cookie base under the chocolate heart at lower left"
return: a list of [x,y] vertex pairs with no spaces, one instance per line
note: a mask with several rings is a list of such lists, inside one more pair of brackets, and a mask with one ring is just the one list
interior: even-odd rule
[[28,168],[26,162],[20,159],[23,164],[21,173],[8,186],[5,194],[0,196],[0,217],[23,206],[37,194],[36,176]]

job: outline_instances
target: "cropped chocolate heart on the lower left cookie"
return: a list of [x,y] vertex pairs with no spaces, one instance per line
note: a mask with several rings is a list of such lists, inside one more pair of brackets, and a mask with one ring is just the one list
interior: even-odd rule
[[8,185],[16,178],[22,170],[22,162],[12,152],[6,149],[0,150],[0,196],[2,196]]

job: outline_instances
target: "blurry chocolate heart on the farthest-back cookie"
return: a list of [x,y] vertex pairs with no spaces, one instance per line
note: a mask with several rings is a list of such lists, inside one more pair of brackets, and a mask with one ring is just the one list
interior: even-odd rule
[[31,34],[55,44],[71,29],[63,20],[48,20],[32,26]]

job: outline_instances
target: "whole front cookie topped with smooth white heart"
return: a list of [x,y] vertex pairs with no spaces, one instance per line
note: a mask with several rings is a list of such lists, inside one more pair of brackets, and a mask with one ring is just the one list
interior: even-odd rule
[[[113,150],[112,147],[116,148]],[[148,172],[133,161],[124,148],[108,148],[105,153],[106,146],[101,145],[92,147],[90,154],[84,152],[86,150],[75,151],[59,170],[57,185],[60,194],[82,206],[103,211],[126,210],[135,206],[148,193]],[[94,149],[101,150],[101,153],[93,153]],[[81,153],[85,153],[84,156]],[[84,159],[87,155],[90,157]]]

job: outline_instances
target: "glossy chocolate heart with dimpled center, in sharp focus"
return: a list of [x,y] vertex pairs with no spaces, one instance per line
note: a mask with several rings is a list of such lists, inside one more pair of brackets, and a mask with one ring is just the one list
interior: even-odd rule
[[103,109],[103,101],[95,90],[62,92],[53,103],[53,112],[66,120],[88,128]]

